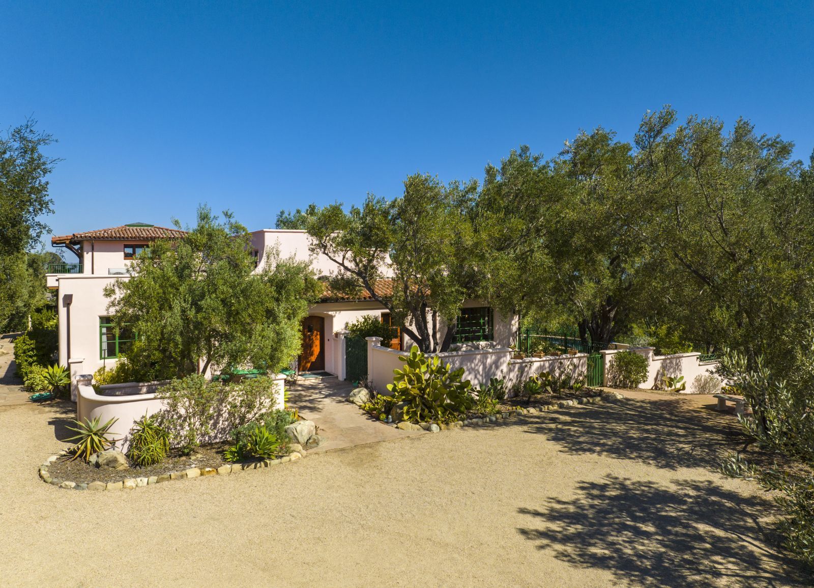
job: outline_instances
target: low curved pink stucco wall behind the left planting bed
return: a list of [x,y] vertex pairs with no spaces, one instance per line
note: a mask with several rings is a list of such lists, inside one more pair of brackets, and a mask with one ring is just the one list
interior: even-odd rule
[[[274,385],[278,387],[275,394],[274,409],[284,407],[283,386],[286,376],[282,374],[272,377]],[[99,417],[102,423],[107,423],[110,419],[118,419],[113,423],[110,432],[116,442],[116,448],[120,451],[127,451],[129,446],[129,432],[133,428],[133,423],[141,419],[144,415],[153,415],[162,408],[164,404],[155,397],[155,390],[160,388],[164,382],[148,382],[138,384],[109,384],[102,386],[102,394],[96,393],[91,382],[92,375],[77,375],[75,384],[77,387],[77,419],[84,422],[85,419],[95,419]],[[221,425],[222,415],[217,415],[216,422],[212,423],[212,436],[202,441],[222,441],[229,434],[225,427]]]

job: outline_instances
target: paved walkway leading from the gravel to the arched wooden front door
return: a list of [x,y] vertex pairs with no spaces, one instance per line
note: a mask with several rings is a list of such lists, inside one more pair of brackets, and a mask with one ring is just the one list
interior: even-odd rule
[[352,389],[349,382],[334,377],[300,380],[288,391],[288,405],[299,409],[302,418],[313,420],[319,428],[317,433],[327,438],[327,442],[314,452],[424,433],[400,431],[365,415],[356,405],[348,402]]

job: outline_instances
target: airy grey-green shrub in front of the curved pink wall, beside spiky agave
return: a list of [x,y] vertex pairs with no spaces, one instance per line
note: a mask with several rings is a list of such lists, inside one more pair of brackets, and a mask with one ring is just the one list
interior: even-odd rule
[[164,409],[156,413],[156,418],[182,453],[192,453],[201,438],[212,432],[212,421],[228,391],[228,387],[200,374],[172,380],[158,389],[156,397],[164,402]]

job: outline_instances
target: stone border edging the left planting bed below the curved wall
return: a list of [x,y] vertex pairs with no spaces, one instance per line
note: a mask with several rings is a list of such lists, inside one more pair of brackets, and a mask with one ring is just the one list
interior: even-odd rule
[[[68,490],[95,490],[101,492],[103,490],[122,490],[141,488],[142,486],[149,486],[154,484],[161,484],[162,482],[171,482],[175,480],[188,480],[190,478],[199,478],[204,476],[230,476],[243,472],[243,470],[259,470],[264,467],[276,466],[280,463],[294,462],[297,459],[304,458],[308,453],[302,449],[301,445],[292,443],[289,447],[294,448],[290,454],[284,455],[278,459],[266,459],[259,462],[246,462],[246,463],[225,463],[221,467],[190,467],[189,469],[182,470],[181,472],[170,472],[168,474],[161,474],[160,476],[138,477],[138,478],[125,478],[117,482],[100,482],[94,481],[90,484],[77,484],[70,480],[59,480],[53,478],[48,473],[48,467],[57,459],[63,458],[68,454],[68,450],[62,450],[58,454],[51,455],[39,468],[40,479],[46,484],[50,484],[62,489]],[[300,449],[296,449],[296,448]]]

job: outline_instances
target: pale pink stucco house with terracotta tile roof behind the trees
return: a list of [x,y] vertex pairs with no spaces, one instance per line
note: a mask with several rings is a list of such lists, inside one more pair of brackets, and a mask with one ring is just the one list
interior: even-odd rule
[[[72,373],[77,374],[93,373],[101,366],[116,362],[132,340],[132,334],[125,330],[117,333],[112,328],[104,287],[114,280],[129,279],[128,265],[151,242],[181,239],[184,235],[183,230],[133,222],[51,238],[54,247],[65,248],[77,256],[75,263],[51,265],[46,277],[48,287],[56,290],[60,365],[70,365]],[[338,269],[327,257],[310,252],[309,235],[303,230],[252,231],[252,253],[258,265],[263,263],[265,252],[272,247],[278,248],[282,257],[293,255],[297,259],[309,260],[318,275],[329,275]],[[375,287],[377,293],[387,297],[392,293],[392,283],[387,278],[387,271],[383,274],[383,279]],[[309,309],[309,316],[303,321],[299,370],[326,371],[344,377],[344,329],[365,314],[377,315],[384,322],[391,323],[387,309],[367,292],[349,300],[326,289],[325,296]],[[466,301],[458,318],[457,344],[463,348],[508,346],[514,340],[516,328],[516,317],[503,318],[479,301]],[[394,347],[406,348],[408,345],[409,340],[401,335],[393,342]]]

